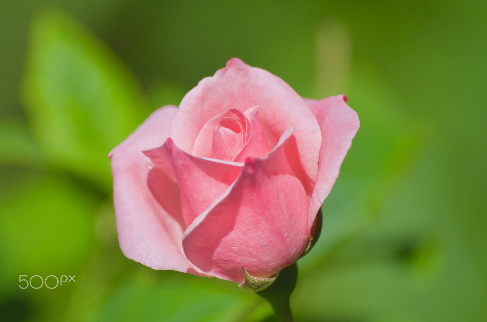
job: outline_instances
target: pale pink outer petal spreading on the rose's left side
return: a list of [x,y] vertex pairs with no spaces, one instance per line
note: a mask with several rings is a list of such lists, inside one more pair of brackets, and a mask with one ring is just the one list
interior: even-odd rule
[[[156,110],[109,154],[118,240],[125,256],[146,266],[202,274],[182,252],[181,218],[171,216],[177,216],[177,207],[169,209],[169,214],[150,192],[150,160],[141,152],[169,137],[169,122],[177,110],[172,106]],[[155,175],[161,183],[168,183],[156,194],[173,193],[171,190],[177,188],[164,172],[157,171]]]

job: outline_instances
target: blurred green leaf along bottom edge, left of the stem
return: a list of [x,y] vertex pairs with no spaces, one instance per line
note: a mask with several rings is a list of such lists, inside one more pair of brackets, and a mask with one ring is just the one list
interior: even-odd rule
[[158,272],[146,270],[113,292],[96,321],[257,322],[272,314],[237,284],[173,271],[160,272],[157,281]]

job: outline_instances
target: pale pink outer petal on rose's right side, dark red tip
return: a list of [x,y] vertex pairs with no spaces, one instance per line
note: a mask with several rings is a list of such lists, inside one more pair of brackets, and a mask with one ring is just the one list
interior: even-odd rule
[[311,229],[319,207],[335,184],[341,163],[352,145],[360,122],[357,113],[345,104],[345,95],[305,101],[315,114],[323,137],[319,150],[318,179],[309,208],[308,225]]

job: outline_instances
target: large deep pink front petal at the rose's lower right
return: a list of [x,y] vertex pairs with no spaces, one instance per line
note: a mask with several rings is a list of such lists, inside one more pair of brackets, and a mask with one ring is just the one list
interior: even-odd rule
[[244,267],[253,276],[269,276],[296,261],[306,246],[308,197],[283,148],[291,132],[265,159],[247,158],[234,184],[187,228],[187,258],[206,273],[242,282]]

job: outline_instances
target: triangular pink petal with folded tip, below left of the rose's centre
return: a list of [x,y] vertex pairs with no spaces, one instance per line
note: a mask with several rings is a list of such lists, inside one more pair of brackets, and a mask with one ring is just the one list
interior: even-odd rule
[[183,219],[189,225],[237,179],[243,163],[192,156],[171,138],[162,146],[144,150],[144,154],[157,164],[169,160],[181,191]]

